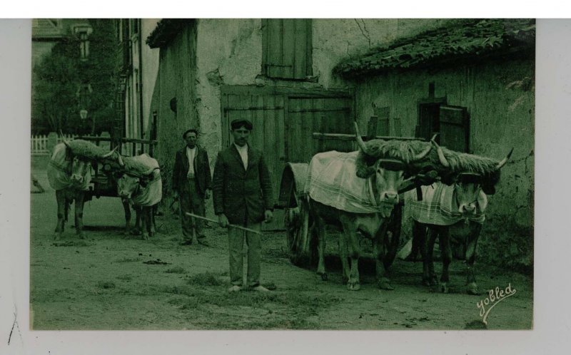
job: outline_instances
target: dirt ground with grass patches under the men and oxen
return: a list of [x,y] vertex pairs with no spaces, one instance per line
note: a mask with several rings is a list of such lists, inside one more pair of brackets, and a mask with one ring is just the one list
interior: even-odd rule
[[[228,294],[225,230],[208,229],[210,247],[180,246],[179,221],[165,212],[157,217],[158,233],[151,240],[123,239],[123,208],[110,197],[86,203],[86,240],[76,237],[72,222],[54,241],[55,192],[43,167],[33,166],[32,172],[46,189],[31,194],[35,330],[483,329],[477,302],[487,297],[486,290],[508,284],[517,292],[491,309],[487,329],[532,328],[532,279],[477,261],[478,296],[464,293],[465,268],[458,261],[450,268],[450,294],[421,284],[420,262],[401,260],[392,268],[395,290],[378,289],[374,274],[363,272],[360,291],[350,292],[339,269],[328,270],[324,282],[314,269],[290,264],[285,232],[268,232],[262,283],[275,289]],[[335,240],[328,243],[335,249]],[[440,264],[435,267],[438,272]]]

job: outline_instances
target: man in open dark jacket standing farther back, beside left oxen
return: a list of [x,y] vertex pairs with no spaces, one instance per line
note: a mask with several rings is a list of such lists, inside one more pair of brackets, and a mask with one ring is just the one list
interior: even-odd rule
[[[173,168],[173,191],[175,199],[178,197],[181,205],[181,224],[183,229],[182,245],[191,245],[194,232],[198,243],[208,246],[204,240],[204,222],[198,218],[186,215],[191,212],[195,215],[206,215],[204,200],[210,198],[212,179],[210,163],[206,150],[196,144],[198,131],[187,130],[183,133],[186,146],[176,152]],[[192,162],[192,163],[191,163]]]

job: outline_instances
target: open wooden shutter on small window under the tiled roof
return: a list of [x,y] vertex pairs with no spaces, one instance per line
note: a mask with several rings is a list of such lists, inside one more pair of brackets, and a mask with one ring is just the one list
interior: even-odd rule
[[440,106],[440,145],[469,153],[470,125],[468,110],[458,106]]

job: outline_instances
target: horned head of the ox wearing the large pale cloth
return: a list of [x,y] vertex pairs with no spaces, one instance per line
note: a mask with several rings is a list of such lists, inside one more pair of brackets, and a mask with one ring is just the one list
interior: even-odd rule
[[425,158],[430,153],[432,147],[428,145],[425,150],[412,155],[408,159],[376,158],[375,155],[371,154],[370,148],[363,142],[357,123],[355,122],[354,125],[359,149],[365,155],[365,161],[368,162],[367,165],[370,165],[367,173],[358,172],[358,176],[360,178],[374,179],[375,198],[381,207],[381,215],[389,217],[393,207],[398,203],[398,190],[405,182],[405,171],[408,168],[408,164]]

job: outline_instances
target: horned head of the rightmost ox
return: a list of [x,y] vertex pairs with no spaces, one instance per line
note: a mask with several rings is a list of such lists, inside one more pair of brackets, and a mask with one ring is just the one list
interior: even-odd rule
[[[442,148],[432,140],[433,145],[438,153],[438,159],[440,164],[445,168],[450,167],[450,163],[446,159]],[[456,202],[458,203],[458,212],[463,216],[469,217],[471,215],[476,215],[478,210],[485,210],[485,205],[487,204],[487,199],[485,194],[493,194],[495,192],[494,184],[500,179],[500,170],[510,159],[513,152],[510,153],[501,160],[494,167],[494,171],[488,176],[484,176],[480,173],[463,172],[454,175],[451,178],[451,182],[454,184],[454,192],[456,196]]]

